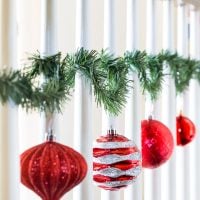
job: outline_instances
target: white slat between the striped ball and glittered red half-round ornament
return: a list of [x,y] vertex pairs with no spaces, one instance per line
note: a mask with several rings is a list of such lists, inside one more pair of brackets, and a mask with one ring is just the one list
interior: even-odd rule
[[[127,0],[127,29],[126,29],[126,49],[133,51],[138,49],[139,40],[139,2],[137,0]],[[141,95],[140,85],[136,73],[129,73],[129,80],[133,80],[130,89],[127,104],[125,108],[125,135],[133,140],[137,147],[141,150]],[[142,174],[137,178],[136,183],[124,190],[124,199],[126,200],[142,200]]]

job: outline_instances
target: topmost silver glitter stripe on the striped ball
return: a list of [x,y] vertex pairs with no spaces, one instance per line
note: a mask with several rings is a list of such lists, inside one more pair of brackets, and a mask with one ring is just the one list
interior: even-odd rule
[[127,142],[94,142],[94,148],[100,149],[116,149],[116,148],[129,148],[136,147],[133,141]]

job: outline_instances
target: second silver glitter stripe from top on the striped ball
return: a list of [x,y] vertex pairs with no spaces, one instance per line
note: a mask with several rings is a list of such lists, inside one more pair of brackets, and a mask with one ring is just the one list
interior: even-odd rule
[[141,155],[139,152],[128,154],[125,156],[120,156],[118,154],[111,154],[111,155],[101,156],[98,158],[93,157],[93,162],[101,164],[113,164],[124,160],[140,160],[140,158]]

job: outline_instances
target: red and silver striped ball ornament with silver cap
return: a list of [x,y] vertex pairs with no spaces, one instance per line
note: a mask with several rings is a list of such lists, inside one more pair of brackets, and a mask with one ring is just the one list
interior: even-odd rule
[[93,147],[93,180],[105,190],[132,184],[142,170],[141,153],[133,141],[110,130]]

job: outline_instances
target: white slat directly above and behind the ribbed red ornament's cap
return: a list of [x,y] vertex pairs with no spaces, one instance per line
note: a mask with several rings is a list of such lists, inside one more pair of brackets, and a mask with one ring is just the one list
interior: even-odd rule
[[[40,51],[41,56],[51,56],[58,53],[57,47],[57,1],[42,0],[41,1],[41,40]],[[45,80],[44,80],[45,81]],[[44,133],[49,129],[55,128],[55,115],[43,114],[41,122],[41,138],[44,138]],[[57,135],[58,133],[56,133]]]

